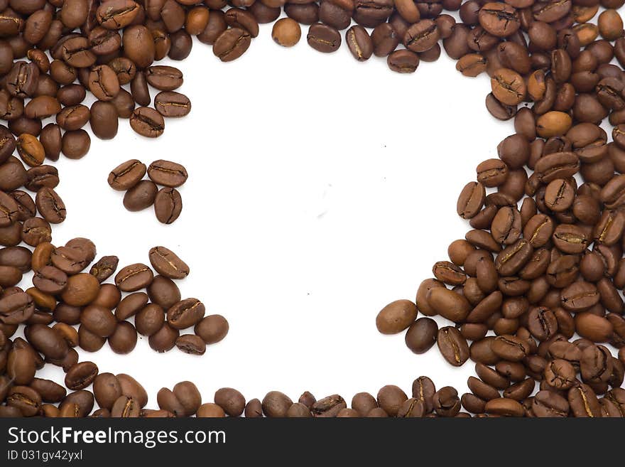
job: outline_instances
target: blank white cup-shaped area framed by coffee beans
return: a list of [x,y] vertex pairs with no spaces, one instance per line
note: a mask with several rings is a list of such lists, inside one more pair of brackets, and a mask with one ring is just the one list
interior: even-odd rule
[[[271,40],[271,25],[261,26],[248,52],[227,64],[195,41],[174,63],[185,74],[188,117],[168,119],[156,141],[120,120],[114,141],[94,138],[85,159],[57,164],[68,215],[55,245],[89,237],[98,257],[116,254],[120,267],[169,247],[190,265],[183,298],[229,320],[227,338],[202,357],[155,353],[147,338],[130,355],[108,345],[79,350],[101,372],[136,377],[148,407],[161,387],[182,380],[195,382],[205,402],[219,387],[247,399],[281,390],[297,400],[310,390],[349,402],[387,384],[409,394],[419,375],[467,390],[471,362],[451,367],[437,348],[414,355],[403,333],[379,334],[375,318],[393,300],[414,300],[447,245],[464,237],[457,195],[477,163],[496,157],[512,123],[484,107],[488,77],[463,77],[444,52],[398,75],[384,59],[358,63],[345,45],[312,50],[307,29],[286,49]],[[109,171],[133,158],[188,168],[173,225],[158,223],[152,209],[127,212],[123,193],[107,185]],[[57,367],[38,375],[63,377]]]

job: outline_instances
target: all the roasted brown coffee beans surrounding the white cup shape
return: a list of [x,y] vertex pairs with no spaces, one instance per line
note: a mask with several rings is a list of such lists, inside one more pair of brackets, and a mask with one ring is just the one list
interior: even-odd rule
[[[0,125],[0,416],[625,417],[623,4],[0,0],[0,118],[8,122]],[[114,138],[119,119],[141,136],[161,136],[165,117],[183,117],[191,104],[177,91],[183,73],[155,63],[186,58],[193,36],[219,60],[234,60],[259,24],[276,20],[279,45],[298,43],[304,24],[315,50],[335,52],[345,41],[356,60],[386,57],[398,73],[444,49],[463,75],[487,73],[488,111],[514,119],[499,159],[479,163],[460,189],[457,214],[472,230],[452,242],[415,301],[394,301],[376,318],[381,333],[406,331],[414,353],[436,344],[450,365],[471,359],[470,392],[436,390],[418,377],[412,397],[388,385],[376,397],[356,394],[351,408],[338,394],[305,392],[293,402],[272,391],[246,402],[232,388],[202,404],[197,387],[180,382],[158,392],[159,409],[147,409],[134,378],[78,361],[76,347],[94,352],[106,342],[129,353],[138,333],[159,352],[202,354],[228,323],[182,299],[175,280],[190,269],[170,249],[152,248],[151,267],[118,271],[114,256],[92,264],[96,249],[85,238],[55,247],[52,225],[66,210],[58,171],[44,162],[85,156],[87,123],[99,139]],[[601,127],[606,118],[612,131]],[[186,178],[178,163],[132,159],[109,184],[126,191],[129,210],[154,205],[170,223]],[[22,284],[30,271],[33,286]],[[24,338],[13,338],[20,326]],[[185,329],[194,332],[180,335]],[[65,387],[36,377],[46,364],[65,370]]]

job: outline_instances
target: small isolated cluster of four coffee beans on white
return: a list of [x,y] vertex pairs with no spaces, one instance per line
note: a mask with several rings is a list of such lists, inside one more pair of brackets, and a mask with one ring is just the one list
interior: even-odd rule
[[[150,180],[143,180],[146,173]],[[154,205],[158,221],[171,224],[183,210],[183,198],[176,188],[187,178],[187,169],[180,163],[158,160],[146,167],[138,159],[131,159],[114,168],[108,181],[114,190],[126,191],[124,208],[139,211]],[[159,190],[157,185],[163,188]]]

